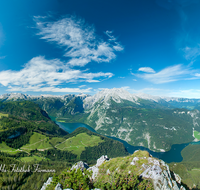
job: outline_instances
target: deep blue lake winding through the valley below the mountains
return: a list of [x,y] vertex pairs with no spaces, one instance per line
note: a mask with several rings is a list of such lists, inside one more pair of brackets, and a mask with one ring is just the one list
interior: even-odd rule
[[[54,118],[52,118],[54,119]],[[55,120],[54,120],[55,121]],[[96,131],[83,123],[61,123],[61,122],[57,122],[55,121],[56,124],[58,124],[60,126],[60,128],[62,128],[63,130],[67,131],[68,133],[73,132],[75,129],[77,129],[78,127],[85,127],[87,129],[89,129],[92,132]],[[109,137],[109,136],[108,136]],[[181,151],[188,146],[189,144],[200,144],[200,141],[198,142],[191,142],[191,143],[185,143],[185,144],[174,144],[171,147],[170,151],[167,152],[153,152],[151,150],[149,150],[148,148],[142,147],[142,146],[132,146],[130,144],[128,144],[126,141],[123,141],[121,139],[118,139],[116,137],[109,137],[112,138],[114,140],[118,140],[120,142],[122,142],[124,144],[124,146],[126,147],[127,151],[131,154],[133,154],[134,151],[136,150],[146,150],[148,151],[153,157],[162,159],[163,161],[170,163],[170,162],[181,162],[183,160],[182,156],[181,156]]]

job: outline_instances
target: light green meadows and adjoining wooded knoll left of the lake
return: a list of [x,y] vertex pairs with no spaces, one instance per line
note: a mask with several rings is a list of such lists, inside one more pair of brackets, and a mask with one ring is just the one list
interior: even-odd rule
[[[4,142],[1,146],[2,150],[8,154],[17,153],[19,151],[27,153],[29,158],[24,158],[22,161],[27,161],[29,159],[31,161],[33,160],[33,158],[31,158],[33,156],[46,157],[43,151],[47,150],[52,150],[53,155],[58,154],[58,152],[55,151],[68,151],[77,155],[77,159],[83,160],[96,160],[103,154],[108,154],[110,157],[128,155],[122,143],[92,133],[85,128],[76,129],[73,133],[65,137],[52,137],[33,132],[28,143],[20,147],[19,151],[12,149]],[[35,152],[36,149],[37,151]]]

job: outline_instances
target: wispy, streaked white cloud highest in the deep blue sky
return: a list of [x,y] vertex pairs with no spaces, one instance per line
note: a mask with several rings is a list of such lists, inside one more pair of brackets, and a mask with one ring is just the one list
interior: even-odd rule
[[106,31],[109,40],[103,41],[95,34],[94,27],[87,25],[84,20],[75,17],[56,22],[45,22],[41,17],[34,17],[34,20],[39,29],[37,35],[64,47],[64,56],[70,58],[68,64],[72,66],[85,66],[91,61],[109,62],[116,57],[115,51],[123,50],[111,31]]

